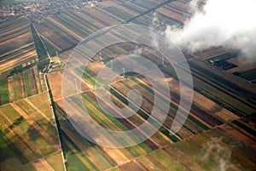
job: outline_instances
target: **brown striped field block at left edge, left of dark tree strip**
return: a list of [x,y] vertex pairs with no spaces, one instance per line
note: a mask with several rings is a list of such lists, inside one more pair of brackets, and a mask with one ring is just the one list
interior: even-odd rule
[[0,28],[0,35],[0,72],[38,59],[28,21],[13,20],[4,23]]

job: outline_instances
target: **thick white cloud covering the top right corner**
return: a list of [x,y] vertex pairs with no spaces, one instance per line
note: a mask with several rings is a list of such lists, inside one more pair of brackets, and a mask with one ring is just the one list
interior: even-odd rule
[[194,16],[182,29],[167,26],[166,37],[189,52],[224,46],[256,61],[256,0],[207,0],[202,10],[197,2],[190,3]]

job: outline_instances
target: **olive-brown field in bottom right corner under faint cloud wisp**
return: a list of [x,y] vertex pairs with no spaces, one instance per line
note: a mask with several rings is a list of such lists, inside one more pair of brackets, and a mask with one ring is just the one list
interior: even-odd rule
[[[229,129],[229,133],[223,132],[224,129]],[[255,154],[250,152],[254,149],[237,137],[247,140],[247,137],[230,126],[215,128],[153,151],[113,170],[251,170],[256,164]]]

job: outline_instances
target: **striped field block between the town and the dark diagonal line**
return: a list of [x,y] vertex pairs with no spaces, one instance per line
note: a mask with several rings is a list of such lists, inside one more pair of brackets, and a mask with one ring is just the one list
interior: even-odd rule
[[135,1],[134,3],[119,2],[108,5],[106,2],[102,2],[94,8],[84,7],[77,11],[64,11],[63,14],[49,17],[43,23],[35,26],[43,38],[49,54],[54,55],[54,51],[63,52],[73,48],[92,32],[131,20],[163,2]]

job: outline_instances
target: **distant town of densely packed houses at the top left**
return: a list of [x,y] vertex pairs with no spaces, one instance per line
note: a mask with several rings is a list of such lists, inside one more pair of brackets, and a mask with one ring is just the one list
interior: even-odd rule
[[61,14],[62,9],[80,9],[94,6],[97,1],[89,0],[35,0],[27,3],[0,5],[0,24],[7,20],[26,18],[41,22],[49,15]]

